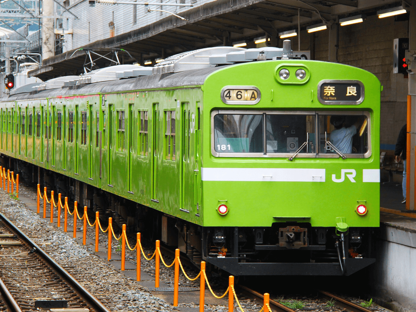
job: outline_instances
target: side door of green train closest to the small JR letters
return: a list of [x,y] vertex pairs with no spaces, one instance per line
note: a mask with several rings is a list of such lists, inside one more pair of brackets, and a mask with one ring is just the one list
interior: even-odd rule
[[193,193],[191,190],[191,183],[189,181],[189,143],[190,143],[190,132],[189,132],[189,103],[182,103],[182,161],[181,161],[181,206],[180,210],[189,212],[189,197]]

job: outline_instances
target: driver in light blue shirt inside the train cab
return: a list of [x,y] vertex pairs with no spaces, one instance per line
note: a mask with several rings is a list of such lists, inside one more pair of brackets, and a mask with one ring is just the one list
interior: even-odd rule
[[358,118],[357,121],[351,125],[351,123],[347,122],[346,116],[333,115],[329,119],[329,122],[335,127],[335,130],[333,130],[329,136],[329,141],[334,144],[342,154],[351,154],[352,137],[357,133],[358,127],[362,124],[362,118]]

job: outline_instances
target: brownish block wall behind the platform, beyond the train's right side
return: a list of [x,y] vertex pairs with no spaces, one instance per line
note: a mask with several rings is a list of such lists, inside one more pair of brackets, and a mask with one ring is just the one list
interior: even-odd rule
[[[406,123],[408,79],[393,74],[393,40],[408,37],[409,21],[394,17],[369,16],[359,24],[339,27],[338,62],[368,70],[380,79],[381,149],[394,149],[401,127]],[[328,60],[328,31],[315,33],[315,59]],[[301,33],[301,50],[311,47],[310,34]]]

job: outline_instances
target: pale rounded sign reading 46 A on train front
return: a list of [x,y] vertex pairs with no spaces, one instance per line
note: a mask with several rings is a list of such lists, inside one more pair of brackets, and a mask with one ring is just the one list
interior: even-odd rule
[[227,86],[221,90],[225,104],[253,105],[260,101],[260,90],[252,86]]

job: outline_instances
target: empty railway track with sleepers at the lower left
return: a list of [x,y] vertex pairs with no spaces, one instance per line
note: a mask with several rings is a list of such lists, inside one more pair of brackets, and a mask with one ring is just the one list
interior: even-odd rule
[[[0,213],[0,311],[109,310]],[[3,310],[5,306],[5,310]]]

